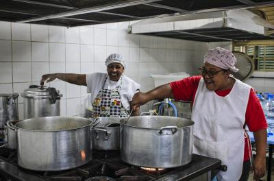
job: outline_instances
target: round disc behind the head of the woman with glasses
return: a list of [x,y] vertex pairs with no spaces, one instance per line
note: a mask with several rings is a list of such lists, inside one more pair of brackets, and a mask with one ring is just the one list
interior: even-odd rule
[[242,53],[240,51],[233,51],[234,56],[237,58],[237,62],[235,67],[239,69],[238,72],[233,73],[234,77],[242,82],[245,82],[254,71],[254,62],[251,57],[249,57],[246,53]]

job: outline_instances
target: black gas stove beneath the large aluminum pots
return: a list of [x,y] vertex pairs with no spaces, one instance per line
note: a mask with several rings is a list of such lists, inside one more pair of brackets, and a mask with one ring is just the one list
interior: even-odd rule
[[211,180],[221,169],[221,160],[192,155],[188,165],[173,169],[147,171],[128,165],[119,152],[94,151],[88,164],[66,171],[31,171],[17,165],[16,150],[0,148],[0,180],[20,181],[173,181]]

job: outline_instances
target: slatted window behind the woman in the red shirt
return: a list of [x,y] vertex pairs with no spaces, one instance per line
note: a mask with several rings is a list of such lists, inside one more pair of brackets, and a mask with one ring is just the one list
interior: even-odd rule
[[234,43],[233,49],[234,51],[247,53],[254,60],[256,71],[274,71],[273,41]]

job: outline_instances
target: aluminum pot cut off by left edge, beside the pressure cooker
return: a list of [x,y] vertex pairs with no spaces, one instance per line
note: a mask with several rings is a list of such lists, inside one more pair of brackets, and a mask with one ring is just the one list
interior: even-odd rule
[[0,93],[0,130],[7,121],[18,120],[17,97],[18,93]]

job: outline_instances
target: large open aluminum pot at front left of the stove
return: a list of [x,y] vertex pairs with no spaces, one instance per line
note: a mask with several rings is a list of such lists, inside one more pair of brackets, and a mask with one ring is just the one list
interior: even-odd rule
[[41,117],[15,124],[18,165],[60,171],[92,160],[92,121],[81,117]]

